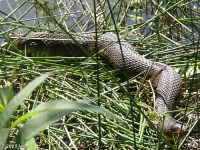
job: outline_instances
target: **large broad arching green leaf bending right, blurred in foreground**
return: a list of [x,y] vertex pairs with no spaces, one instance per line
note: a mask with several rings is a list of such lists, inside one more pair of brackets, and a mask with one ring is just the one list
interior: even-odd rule
[[50,101],[44,104],[40,104],[35,110],[33,110],[34,112],[37,112],[33,114],[37,115],[29,119],[19,131],[19,143],[26,143],[27,140],[38,134],[40,131],[44,130],[48,125],[56,122],[64,115],[69,115],[78,109],[102,113],[120,120],[113,113],[96,105],[91,105],[85,102],[74,102],[66,100]]

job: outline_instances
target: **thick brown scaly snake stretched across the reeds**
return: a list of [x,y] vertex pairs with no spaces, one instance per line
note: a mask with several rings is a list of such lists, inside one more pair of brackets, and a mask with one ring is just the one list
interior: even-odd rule
[[102,34],[77,33],[62,34],[31,32],[21,36],[16,45],[27,56],[83,56],[97,53],[111,66],[127,77],[148,73],[155,88],[155,108],[160,114],[167,114],[162,123],[162,130],[168,139],[184,137],[188,129],[176,122],[171,114],[175,101],[180,94],[182,81],[180,75],[171,66],[156,62],[140,55],[133,45],[122,36],[106,32]]

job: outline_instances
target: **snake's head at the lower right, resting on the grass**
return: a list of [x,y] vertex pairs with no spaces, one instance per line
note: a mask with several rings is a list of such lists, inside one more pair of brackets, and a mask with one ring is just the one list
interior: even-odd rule
[[185,125],[176,123],[173,119],[166,117],[163,125],[163,132],[170,141],[181,140],[188,133],[188,129]]

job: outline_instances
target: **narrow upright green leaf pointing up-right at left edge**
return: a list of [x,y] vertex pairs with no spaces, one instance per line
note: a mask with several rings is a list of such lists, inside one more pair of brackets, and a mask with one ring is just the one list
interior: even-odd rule
[[25,88],[23,88],[13,99],[7,104],[6,108],[0,114],[0,129],[4,124],[10,119],[12,113],[19,107],[20,103],[27,97],[29,94],[38,87],[50,73],[43,74],[33,81],[31,81]]

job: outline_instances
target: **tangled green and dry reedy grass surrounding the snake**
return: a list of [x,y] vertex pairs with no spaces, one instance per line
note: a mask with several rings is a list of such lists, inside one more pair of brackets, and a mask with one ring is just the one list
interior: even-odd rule
[[[61,0],[52,3],[25,1],[13,6],[9,2],[1,2],[2,7],[3,3],[10,11],[0,10],[0,35],[11,47],[1,48],[0,51],[0,85],[2,88],[12,87],[14,91],[8,92],[7,100],[24,89],[38,75],[54,72],[34,91],[27,90],[31,94],[28,94],[14,114],[7,118],[9,121],[4,127],[11,127],[14,121],[41,103],[48,104],[60,99],[89,101],[109,110],[122,120],[119,123],[109,116],[91,111],[75,111],[46,126],[28,145],[45,149],[200,147],[198,1],[124,3],[118,0],[110,5],[108,1],[99,1],[96,3],[96,9],[95,4],[84,0],[71,3]],[[77,10],[74,10],[75,8]],[[112,10],[112,13],[109,10]],[[35,16],[30,18],[31,12],[35,12]],[[30,30],[66,34],[118,31],[140,54],[173,66],[182,77],[183,91],[179,109],[172,112],[175,113],[175,119],[187,124],[189,134],[182,141],[170,143],[148,122],[146,116],[153,124],[160,122],[160,118],[153,108],[152,91],[144,77],[134,78],[131,84],[127,85],[120,78],[118,70],[114,70],[105,60],[96,56],[28,58],[20,51],[11,51],[14,47],[9,34],[26,33]],[[5,108],[2,107],[1,110]],[[16,135],[25,124],[24,121],[20,123],[14,128],[8,128],[7,145],[16,142]]]

